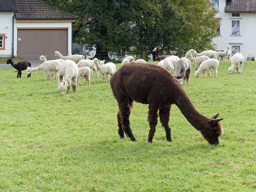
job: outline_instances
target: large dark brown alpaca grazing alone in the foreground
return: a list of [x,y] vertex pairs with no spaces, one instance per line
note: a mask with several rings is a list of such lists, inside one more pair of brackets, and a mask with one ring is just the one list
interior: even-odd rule
[[168,125],[172,104],[178,106],[188,122],[198,130],[210,144],[218,144],[218,137],[223,133],[219,114],[212,118],[200,114],[191,103],[178,80],[164,68],[144,63],[129,63],[121,66],[112,75],[110,85],[117,100],[119,111],[118,133],[124,133],[132,141],[136,141],[130,127],[130,113],[133,101],[149,104],[148,122],[150,130],[148,142],[152,143],[156,131],[157,111],[166,132],[167,141],[172,141],[171,129]]

